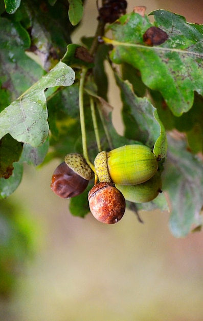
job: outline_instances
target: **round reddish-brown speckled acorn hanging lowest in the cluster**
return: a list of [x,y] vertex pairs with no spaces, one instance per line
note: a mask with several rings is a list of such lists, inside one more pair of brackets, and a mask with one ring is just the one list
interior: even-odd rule
[[100,182],[88,193],[89,209],[102,223],[115,224],[125,212],[125,198],[112,183]]

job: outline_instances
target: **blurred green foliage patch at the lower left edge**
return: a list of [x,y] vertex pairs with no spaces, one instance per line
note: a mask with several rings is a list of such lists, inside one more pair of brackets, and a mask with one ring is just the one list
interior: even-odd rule
[[[37,235],[38,234],[38,235]],[[0,209],[0,297],[9,297],[19,273],[33,258],[39,229],[23,206],[9,200]]]

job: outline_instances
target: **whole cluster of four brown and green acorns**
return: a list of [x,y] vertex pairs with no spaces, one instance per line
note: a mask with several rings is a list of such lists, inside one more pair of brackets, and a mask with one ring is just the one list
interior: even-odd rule
[[[162,187],[159,158],[144,145],[126,145],[95,158],[100,183],[88,193],[89,208],[100,222],[119,222],[125,212],[125,200],[150,202]],[[51,189],[60,197],[81,194],[94,172],[80,154],[68,154],[52,175]]]

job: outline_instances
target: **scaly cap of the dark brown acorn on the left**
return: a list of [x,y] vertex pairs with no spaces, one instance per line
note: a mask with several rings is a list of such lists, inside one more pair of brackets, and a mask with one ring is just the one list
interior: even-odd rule
[[64,162],[75,173],[77,173],[84,179],[90,180],[94,177],[94,172],[86,163],[86,160],[82,155],[77,153],[67,154],[64,158]]

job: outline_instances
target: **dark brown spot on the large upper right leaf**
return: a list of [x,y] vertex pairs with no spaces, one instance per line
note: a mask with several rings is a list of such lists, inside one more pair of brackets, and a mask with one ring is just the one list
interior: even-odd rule
[[157,27],[150,27],[143,35],[143,41],[148,46],[163,44],[168,39],[168,34]]

